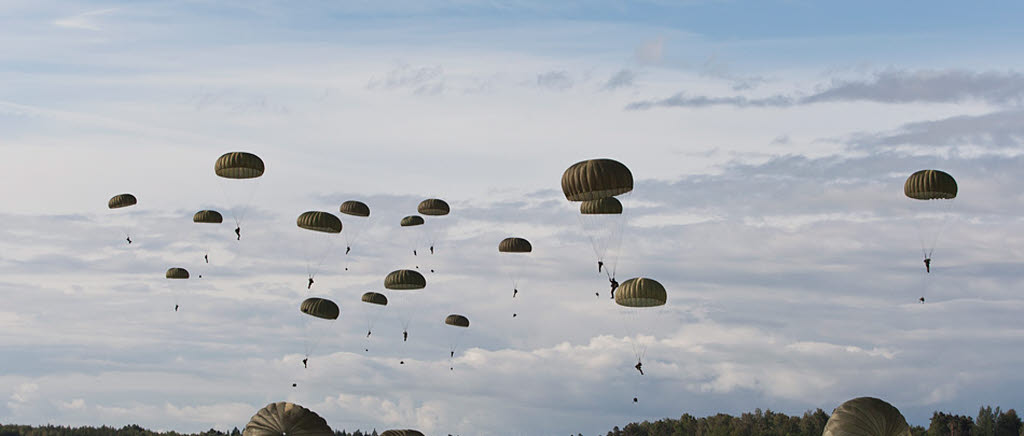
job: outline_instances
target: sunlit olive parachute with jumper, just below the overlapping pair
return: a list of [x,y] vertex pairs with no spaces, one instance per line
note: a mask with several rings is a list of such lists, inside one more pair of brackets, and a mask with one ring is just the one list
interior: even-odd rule
[[630,278],[623,281],[623,285],[615,291],[615,304],[622,306],[626,329],[628,330],[630,342],[633,345],[633,353],[636,355],[636,368],[643,374],[642,362],[647,354],[647,345],[639,337],[640,334],[649,334],[653,325],[650,325],[656,315],[649,312],[654,307],[664,306],[669,295],[665,287],[657,280],[645,277]]

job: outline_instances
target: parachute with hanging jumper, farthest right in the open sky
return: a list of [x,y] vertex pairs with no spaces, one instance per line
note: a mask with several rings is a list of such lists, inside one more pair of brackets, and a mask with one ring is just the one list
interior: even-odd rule
[[932,252],[945,227],[956,190],[953,176],[939,170],[918,171],[903,183],[903,194],[921,201],[915,202],[920,207],[915,208],[914,227],[918,228],[921,252],[925,256],[925,272],[932,270]]

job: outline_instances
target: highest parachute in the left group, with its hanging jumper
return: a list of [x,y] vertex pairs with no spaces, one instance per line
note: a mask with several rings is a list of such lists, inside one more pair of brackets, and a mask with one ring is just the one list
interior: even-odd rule
[[255,193],[255,183],[247,181],[263,175],[266,166],[258,156],[247,151],[225,152],[217,158],[213,171],[223,180],[228,212],[234,218],[234,233],[242,241],[242,221],[249,210],[249,203]]

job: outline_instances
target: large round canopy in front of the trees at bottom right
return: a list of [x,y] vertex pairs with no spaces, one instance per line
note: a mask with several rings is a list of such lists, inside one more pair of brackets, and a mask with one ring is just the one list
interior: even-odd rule
[[821,436],[910,436],[910,427],[892,404],[860,397],[836,407]]

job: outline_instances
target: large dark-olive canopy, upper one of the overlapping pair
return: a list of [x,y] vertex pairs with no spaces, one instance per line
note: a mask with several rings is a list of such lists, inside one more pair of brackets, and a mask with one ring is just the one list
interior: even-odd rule
[[570,202],[604,199],[633,190],[633,173],[617,161],[593,159],[562,173],[562,193]]

